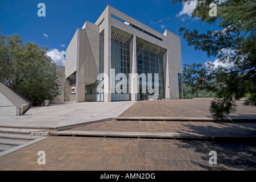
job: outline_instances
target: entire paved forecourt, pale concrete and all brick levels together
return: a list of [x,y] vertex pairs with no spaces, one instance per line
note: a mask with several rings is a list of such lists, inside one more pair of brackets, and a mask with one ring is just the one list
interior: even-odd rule
[[[255,107],[238,102],[233,121],[213,121],[209,105],[161,100],[33,107],[0,126],[48,128],[50,136],[0,156],[0,170],[256,170]],[[38,164],[38,151],[45,151],[46,164]],[[217,152],[217,164],[209,164],[210,151]]]

